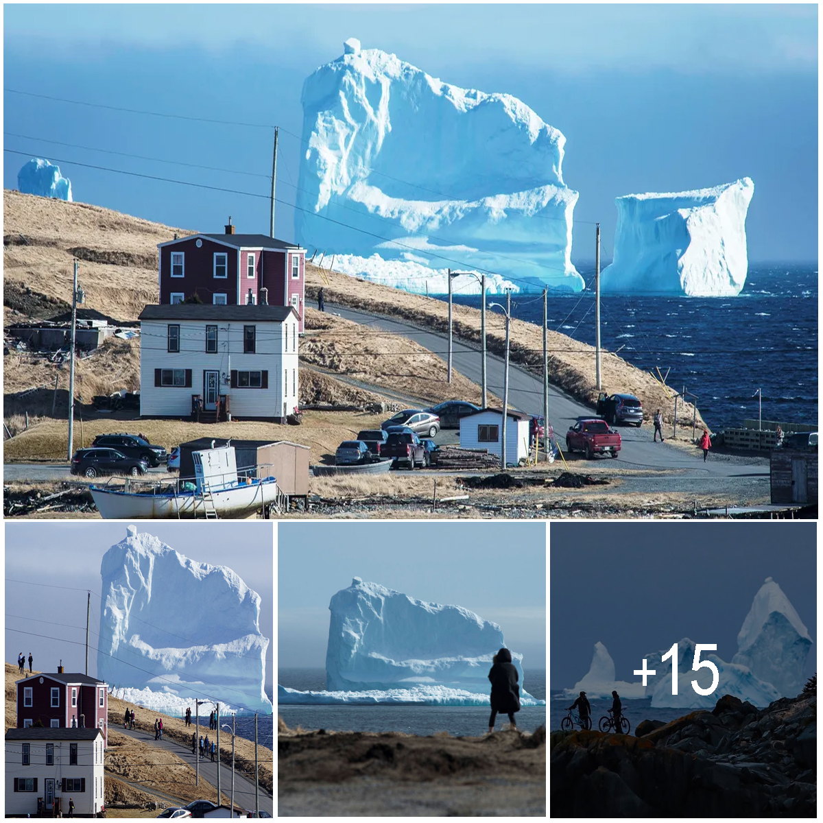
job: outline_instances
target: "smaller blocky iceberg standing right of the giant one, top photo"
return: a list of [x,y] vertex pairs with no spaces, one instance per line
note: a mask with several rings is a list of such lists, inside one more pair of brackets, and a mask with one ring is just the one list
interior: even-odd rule
[[746,212],[755,184],[616,198],[614,259],[602,291],[731,297],[746,283]]

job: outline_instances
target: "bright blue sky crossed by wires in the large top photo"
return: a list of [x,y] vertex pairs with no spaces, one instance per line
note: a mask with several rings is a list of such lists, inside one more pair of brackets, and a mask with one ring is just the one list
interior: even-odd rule
[[[43,26],[44,17],[49,25]],[[817,7],[7,5],[4,86],[188,117],[277,123],[300,134],[302,83],[346,38],[459,86],[506,91],[566,137],[575,217],[601,221],[611,258],[614,198],[755,181],[751,261],[817,257]],[[164,119],[4,94],[4,145],[62,158],[75,198],[172,226],[265,231],[265,199],[83,168],[201,180],[267,193],[269,128]],[[12,137],[11,134],[25,137]],[[282,132],[278,192],[293,201],[299,142]],[[39,138],[39,139],[34,139]],[[105,155],[105,148],[263,176]],[[16,187],[26,156],[4,155]],[[293,212],[278,207],[277,235]],[[593,227],[572,257],[593,258]]]

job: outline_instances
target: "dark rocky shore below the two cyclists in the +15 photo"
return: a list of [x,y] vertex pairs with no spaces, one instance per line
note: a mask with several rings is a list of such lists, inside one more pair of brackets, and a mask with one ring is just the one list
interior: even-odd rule
[[551,815],[816,816],[816,695],[731,695],[638,737],[551,733]]

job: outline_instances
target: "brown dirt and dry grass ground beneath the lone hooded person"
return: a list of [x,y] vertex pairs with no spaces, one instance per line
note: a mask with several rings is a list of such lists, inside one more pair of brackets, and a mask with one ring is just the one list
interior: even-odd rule
[[278,728],[278,816],[546,816],[543,727],[484,737]]

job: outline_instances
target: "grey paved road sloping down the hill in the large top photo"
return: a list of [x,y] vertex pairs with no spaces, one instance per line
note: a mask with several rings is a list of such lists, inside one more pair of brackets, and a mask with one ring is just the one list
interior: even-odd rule
[[[366,314],[355,309],[327,304],[328,310],[356,323],[368,323],[371,328],[384,329],[401,334],[418,342],[421,346],[434,352],[446,351],[446,338],[435,332],[416,328],[409,323]],[[453,366],[461,374],[476,383],[481,381],[480,351],[457,339],[453,341]],[[504,360],[498,356],[486,356],[489,391],[498,397],[503,396]],[[543,387],[542,380],[518,366],[509,365],[509,402],[527,414],[542,414]],[[563,446],[565,432],[575,419],[581,415],[593,414],[591,407],[585,406],[562,389],[549,386],[549,420]],[[734,482],[740,478],[746,489],[757,486],[760,493],[768,491],[769,459],[752,455],[739,457],[709,453],[709,460],[703,462],[703,454],[695,449],[689,453],[676,446],[654,443],[653,430],[649,425],[639,429],[634,426],[621,426],[623,441],[620,457],[615,467],[633,467],[652,472],[678,472],[686,475],[677,482],[677,491],[715,491],[717,481],[728,478]],[[762,488],[760,488],[762,486]],[[660,488],[659,491],[676,491]]]

